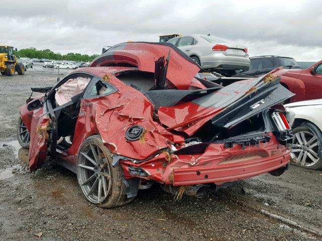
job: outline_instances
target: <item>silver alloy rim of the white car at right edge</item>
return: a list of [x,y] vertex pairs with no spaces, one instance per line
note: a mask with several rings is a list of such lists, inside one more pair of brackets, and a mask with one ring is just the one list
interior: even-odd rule
[[294,134],[292,144],[289,145],[291,156],[300,166],[312,166],[319,161],[317,155],[317,137],[307,131],[300,131]]

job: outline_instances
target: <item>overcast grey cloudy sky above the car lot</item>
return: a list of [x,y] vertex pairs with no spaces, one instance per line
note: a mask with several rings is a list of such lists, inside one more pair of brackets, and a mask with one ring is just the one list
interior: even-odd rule
[[322,59],[322,1],[0,0],[0,45],[100,53],[167,33],[208,34],[248,46],[250,56]]

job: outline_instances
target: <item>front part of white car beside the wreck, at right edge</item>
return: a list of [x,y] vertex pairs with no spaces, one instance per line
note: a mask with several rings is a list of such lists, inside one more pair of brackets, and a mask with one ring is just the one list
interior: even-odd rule
[[293,134],[289,144],[292,163],[307,169],[322,169],[322,99],[285,106]]

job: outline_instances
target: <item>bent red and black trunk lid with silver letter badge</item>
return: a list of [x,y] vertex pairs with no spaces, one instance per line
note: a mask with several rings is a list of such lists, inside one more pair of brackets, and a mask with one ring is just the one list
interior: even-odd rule
[[158,117],[168,130],[194,134],[207,121],[231,128],[241,121],[293,96],[270,74],[234,82],[190,102],[160,107]]

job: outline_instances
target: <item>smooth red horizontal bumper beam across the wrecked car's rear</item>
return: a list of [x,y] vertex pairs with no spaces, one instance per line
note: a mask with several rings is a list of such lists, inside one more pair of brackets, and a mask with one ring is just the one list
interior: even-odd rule
[[285,167],[289,160],[290,153],[285,151],[273,157],[262,158],[243,164],[174,169],[173,185],[181,186],[210,182],[220,185],[225,182],[254,177],[280,167]]

